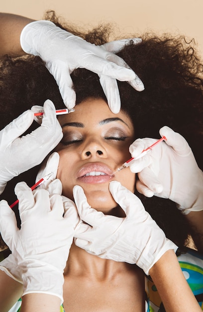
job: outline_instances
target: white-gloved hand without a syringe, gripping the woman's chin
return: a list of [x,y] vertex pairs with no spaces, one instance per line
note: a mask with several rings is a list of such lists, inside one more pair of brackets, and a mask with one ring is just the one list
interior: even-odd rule
[[126,217],[104,215],[91,208],[81,186],[73,189],[81,220],[74,234],[78,247],[104,259],[137,264],[145,274],[169,249],[178,248],[144,209],[141,201],[117,181],[109,183],[115,201]]

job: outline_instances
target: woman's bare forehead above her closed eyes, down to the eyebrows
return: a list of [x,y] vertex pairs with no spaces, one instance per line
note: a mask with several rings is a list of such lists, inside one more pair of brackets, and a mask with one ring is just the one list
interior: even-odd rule
[[74,107],[75,112],[67,115],[60,115],[58,120],[63,126],[65,123],[81,122],[85,127],[101,124],[105,119],[113,119],[123,124],[133,131],[133,125],[129,116],[120,111],[113,114],[107,103],[102,99],[88,99]]

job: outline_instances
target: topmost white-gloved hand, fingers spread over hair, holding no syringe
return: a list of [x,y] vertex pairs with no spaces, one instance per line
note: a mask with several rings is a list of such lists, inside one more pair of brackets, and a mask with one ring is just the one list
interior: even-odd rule
[[[139,38],[133,40],[135,43],[141,41]],[[120,97],[115,79],[130,81],[138,91],[144,89],[141,80],[123,59],[111,53],[118,52],[125,42],[119,40],[118,43],[114,41],[96,46],[47,20],[27,24],[20,36],[22,49],[26,53],[40,56],[45,61],[68,109],[73,108],[76,101],[70,74],[76,68],[86,68],[100,76],[103,91],[113,113],[120,110]]]

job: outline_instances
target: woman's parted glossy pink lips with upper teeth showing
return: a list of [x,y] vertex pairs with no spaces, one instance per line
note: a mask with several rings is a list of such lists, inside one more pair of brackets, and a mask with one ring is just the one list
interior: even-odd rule
[[112,178],[113,171],[101,162],[87,163],[77,173],[77,178],[85,183],[102,183]]

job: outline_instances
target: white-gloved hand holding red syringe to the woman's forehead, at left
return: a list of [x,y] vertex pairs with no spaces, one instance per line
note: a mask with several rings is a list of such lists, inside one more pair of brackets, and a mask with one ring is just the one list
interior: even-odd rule
[[0,131],[0,194],[7,181],[39,164],[61,141],[63,134],[50,100],[44,103],[42,124],[32,133],[19,138],[32,124],[29,110]]

